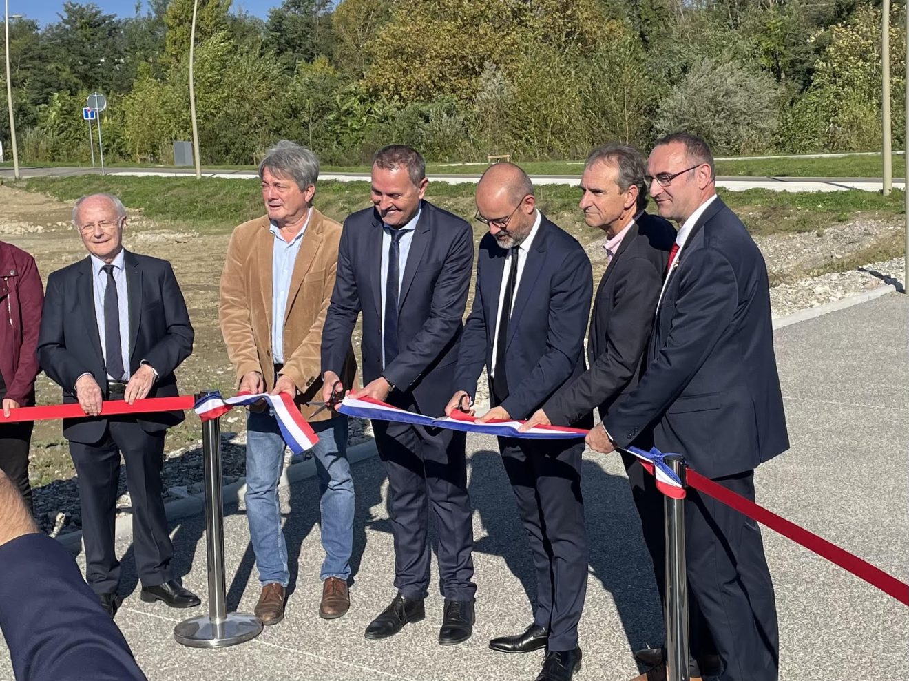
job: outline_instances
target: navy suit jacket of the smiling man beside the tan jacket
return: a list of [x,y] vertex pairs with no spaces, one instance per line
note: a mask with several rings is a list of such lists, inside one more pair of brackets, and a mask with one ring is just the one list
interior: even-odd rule
[[335,290],[322,332],[322,371],[339,376],[357,315],[363,313],[364,383],[385,376],[389,402],[443,416],[454,393],[454,364],[474,260],[474,234],[464,220],[426,201],[421,205],[401,295],[398,347],[382,368],[382,220],[375,208],[349,215],[338,246]]

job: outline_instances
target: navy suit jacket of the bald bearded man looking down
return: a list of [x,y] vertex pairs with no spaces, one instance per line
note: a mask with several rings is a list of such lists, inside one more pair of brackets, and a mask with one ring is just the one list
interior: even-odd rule
[[[464,325],[455,390],[474,396],[492,366],[495,318],[506,251],[493,235],[480,241],[474,306]],[[512,418],[527,418],[566,381],[584,372],[584,331],[594,283],[584,248],[545,216],[530,246],[514,297],[505,348]]]

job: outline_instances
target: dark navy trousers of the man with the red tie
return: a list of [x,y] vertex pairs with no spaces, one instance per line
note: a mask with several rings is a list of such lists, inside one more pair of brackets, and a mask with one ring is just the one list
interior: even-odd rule
[[[754,471],[715,482],[754,501]],[[700,608],[724,664],[722,681],[776,681],[774,585],[754,520],[692,489],[684,505],[689,601]],[[704,639],[702,637],[702,645]],[[692,636],[692,652],[696,644]],[[707,651],[704,651],[707,652]]]

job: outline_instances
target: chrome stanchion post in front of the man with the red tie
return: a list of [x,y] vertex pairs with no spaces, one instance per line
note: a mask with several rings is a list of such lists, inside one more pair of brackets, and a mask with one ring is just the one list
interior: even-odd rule
[[[684,458],[666,455],[684,486]],[[666,546],[666,679],[689,681],[688,573],[684,558],[684,499],[664,496]]]

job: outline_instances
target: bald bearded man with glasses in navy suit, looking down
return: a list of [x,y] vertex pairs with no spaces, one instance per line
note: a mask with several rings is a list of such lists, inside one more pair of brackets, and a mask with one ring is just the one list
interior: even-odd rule
[[[523,419],[584,371],[593,276],[584,248],[536,208],[517,165],[496,164],[476,187],[480,242],[474,307],[464,325],[451,414],[488,369],[492,408],[480,422]],[[589,412],[573,425],[590,426]],[[537,681],[563,681],[581,666],[577,625],[587,588],[580,440],[500,437],[505,472],[530,542],[537,583],[534,622],[494,638],[505,653],[546,647]]]

